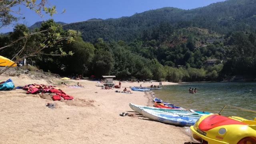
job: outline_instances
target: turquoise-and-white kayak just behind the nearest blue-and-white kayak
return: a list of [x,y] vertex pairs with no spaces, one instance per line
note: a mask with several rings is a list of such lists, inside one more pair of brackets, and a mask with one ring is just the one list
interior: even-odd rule
[[142,105],[135,105],[130,103],[129,104],[130,108],[132,108],[132,110],[141,113],[142,109],[149,109],[149,110],[157,110],[157,111],[162,111],[162,112],[172,112],[172,113],[192,113],[189,110],[185,110],[185,109],[171,109],[171,108],[156,108],[156,107],[146,107],[146,106],[142,106]]

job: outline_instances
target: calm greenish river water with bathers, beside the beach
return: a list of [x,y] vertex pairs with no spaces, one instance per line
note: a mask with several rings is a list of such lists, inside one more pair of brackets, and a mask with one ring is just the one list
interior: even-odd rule
[[[189,87],[196,88],[198,93],[188,93]],[[256,83],[188,83],[166,86],[154,91],[157,98],[188,109],[198,109],[218,113],[225,105],[256,110]],[[256,118],[256,113],[226,108],[226,116]]]

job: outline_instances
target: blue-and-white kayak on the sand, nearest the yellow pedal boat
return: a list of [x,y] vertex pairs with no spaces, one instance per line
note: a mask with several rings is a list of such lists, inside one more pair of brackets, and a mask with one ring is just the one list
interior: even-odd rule
[[192,126],[200,117],[184,116],[180,114],[166,114],[160,112],[154,112],[153,110],[143,109],[142,115],[151,120],[163,122],[166,124],[174,124],[179,126]]

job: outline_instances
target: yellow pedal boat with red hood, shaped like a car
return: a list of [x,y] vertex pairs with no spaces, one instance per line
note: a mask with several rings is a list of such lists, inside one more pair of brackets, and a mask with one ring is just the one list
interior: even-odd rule
[[202,116],[190,126],[193,138],[202,144],[256,144],[256,118],[247,120],[238,116],[221,116],[220,113]]

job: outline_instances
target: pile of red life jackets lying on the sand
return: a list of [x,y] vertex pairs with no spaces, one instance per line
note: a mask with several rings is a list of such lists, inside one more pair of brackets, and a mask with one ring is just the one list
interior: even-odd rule
[[38,84],[31,84],[26,85],[23,87],[24,90],[27,91],[27,94],[37,94],[37,93],[54,93],[55,95],[52,96],[54,101],[59,101],[62,98],[65,100],[72,100],[74,97],[67,95],[62,90],[48,85],[38,85]]

